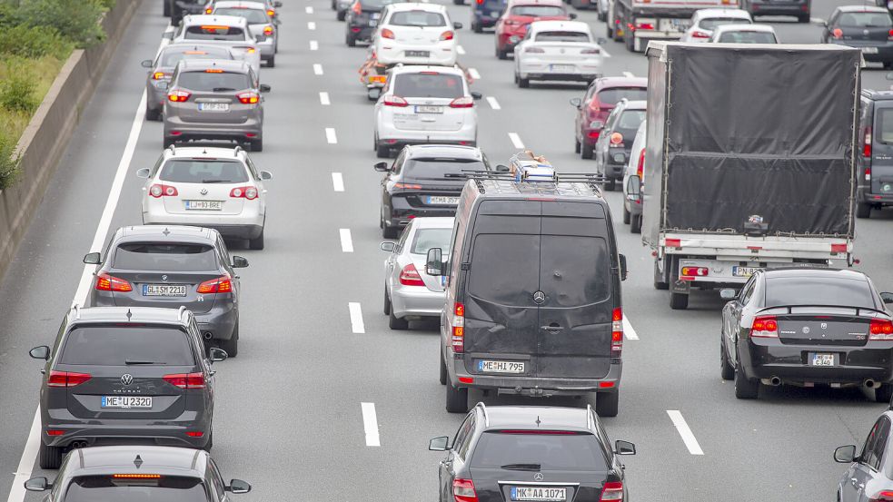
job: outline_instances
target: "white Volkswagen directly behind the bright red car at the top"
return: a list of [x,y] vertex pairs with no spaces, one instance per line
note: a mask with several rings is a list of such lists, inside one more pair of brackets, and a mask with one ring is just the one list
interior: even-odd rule
[[534,21],[515,46],[515,84],[531,80],[591,82],[600,75],[601,40],[580,21]]

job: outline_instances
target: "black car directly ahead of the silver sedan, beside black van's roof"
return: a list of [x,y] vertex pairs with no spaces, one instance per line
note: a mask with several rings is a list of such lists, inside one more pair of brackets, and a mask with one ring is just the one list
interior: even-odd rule
[[455,215],[466,175],[489,171],[490,163],[473,146],[420,144],[404,147],[390,166],[374,167],[387,173],[379,226],[385,239],[394,239],[412,218]]

